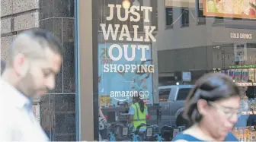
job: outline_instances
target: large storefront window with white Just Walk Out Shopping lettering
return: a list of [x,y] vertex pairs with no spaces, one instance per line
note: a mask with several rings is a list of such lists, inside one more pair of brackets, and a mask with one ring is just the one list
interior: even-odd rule
[[[186,128],[184,100],[195,81],[209,72],[227,74],[245,88],[242,112],[254,113],[255,1],[100,3],[98,95],[107,124],[134,125],[129,117],[134,117],[133,96],[139,95],[148,107],[147,125]],[[252,116],[247,116],[238,118],[235,127],[254,125]],[[106,131],[100,130],[101,137],[110,139]],[[121,136],[118,133],[115,138],[121,140]]]

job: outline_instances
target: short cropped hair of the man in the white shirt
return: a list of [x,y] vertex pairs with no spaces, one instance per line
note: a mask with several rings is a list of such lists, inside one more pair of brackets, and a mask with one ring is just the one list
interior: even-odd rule
[[[35,46],[33,43],[38,43],[38,45]],[[18,34],[11,44],[6,65],[11,66],[14,56],[19,53],[30,58],[44,58],[45,54],[42,54],[42,52],[46,48],[62,55],[62,46],[59,43],[59,39],[53,33],[40,28],[25,30]]]

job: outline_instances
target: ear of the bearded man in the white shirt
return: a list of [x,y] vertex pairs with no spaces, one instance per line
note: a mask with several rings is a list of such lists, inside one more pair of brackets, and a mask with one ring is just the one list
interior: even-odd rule
[[24,77],[27,74],[29,62],[24,54],[19,53],[14,57],[13,68],[19,77]]

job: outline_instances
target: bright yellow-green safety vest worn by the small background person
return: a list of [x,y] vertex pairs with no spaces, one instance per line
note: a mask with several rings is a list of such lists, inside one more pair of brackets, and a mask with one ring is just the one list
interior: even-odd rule
[[[133,128],[137,128],[142,123],[146,124],[146,110],[147,110],[147,106],[145,106],[144,112],[140,111],[139,103],[134,103],[132,105],[132,107],[134,109]],[[145,128],[145,127],[141,127],[141,128]]]

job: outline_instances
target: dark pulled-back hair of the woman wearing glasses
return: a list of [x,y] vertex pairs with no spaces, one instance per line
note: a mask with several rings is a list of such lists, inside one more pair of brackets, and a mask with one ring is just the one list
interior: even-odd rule
[[187,118],[191,124],[201,121],[202,115],[197,109],[199,99],[214,102],[232,96],[240,96],[240,89],[230,77],[222,73],[205,74],[197,80],[195,87],[187,96],[184,118]]

